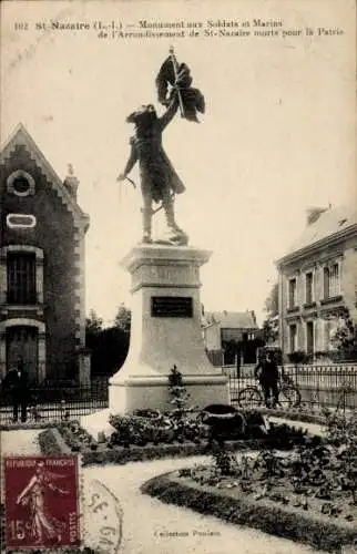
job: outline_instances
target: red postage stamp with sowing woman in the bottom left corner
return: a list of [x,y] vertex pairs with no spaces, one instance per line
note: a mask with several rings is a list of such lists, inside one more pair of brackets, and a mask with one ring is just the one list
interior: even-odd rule
[[3,479],[8,548],[80,545],[76,456],[6,456]]

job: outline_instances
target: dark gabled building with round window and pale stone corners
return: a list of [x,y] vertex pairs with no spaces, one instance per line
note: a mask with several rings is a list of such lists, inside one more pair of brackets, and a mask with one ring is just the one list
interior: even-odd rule
[[21,359],[30,379],[90,377],[79,182],[64,182],[20,125],[0,154],[0,378]]

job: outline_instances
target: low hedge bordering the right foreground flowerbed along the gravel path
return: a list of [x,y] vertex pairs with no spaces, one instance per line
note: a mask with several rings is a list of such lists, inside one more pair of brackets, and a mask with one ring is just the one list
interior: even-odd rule
[[141,486],[141,492],[166,504],[190,507],[204,515],[248,525],[327,552],[341,553],[341,548],[347,545],[357,547],[357,529],[350,524],[329,521],[317,514],[312,516],[293,506],[277,505],[265,499],[254,501],[246,495],[237,499],[228,491],[183,483],[173,473],[151,479]]

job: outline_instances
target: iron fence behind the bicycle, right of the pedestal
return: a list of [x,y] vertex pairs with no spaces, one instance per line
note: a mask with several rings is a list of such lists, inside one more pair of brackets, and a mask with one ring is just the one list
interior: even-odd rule
[[[254,369],[255,366],[223,367],[224,373],[228,377],[233,404],[239,404],[239,398],[245,397],[242,391],[247,387],[256,387],[259,390]],[[322,408],[357,410],[356,365],[280,366],[279,372],[280,376],[287,378],[288,383],[298,390],[300,408],[307,410],[320,410]],[[263,394],[261,398],[263,402]]]

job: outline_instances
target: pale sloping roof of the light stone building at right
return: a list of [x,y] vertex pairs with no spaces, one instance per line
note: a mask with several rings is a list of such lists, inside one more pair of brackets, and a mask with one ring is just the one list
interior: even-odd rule
[[288,252],[278,261],[298,254],[309,246],[332,236],[344,235],[356,227],[357,211],[355,205],[335,206],[324,211],[315,223],[306,225],[304,233],[293,243]]

